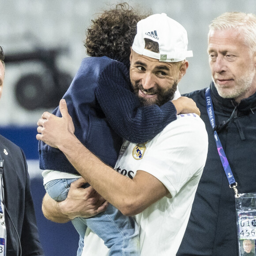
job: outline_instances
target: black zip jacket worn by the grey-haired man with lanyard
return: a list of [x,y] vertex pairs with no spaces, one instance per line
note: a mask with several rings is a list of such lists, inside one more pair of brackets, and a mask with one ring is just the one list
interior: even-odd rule
[[[205,90],[184,95],[192,98],[200,109],[208,132],[209,148],[177,256],[237,256],[234,192],[229,187],[218,155],[207,114]],[[238,184],[238,192],[256,192],[256,94],[237,105],[232,99],[221,98],[211,83],[211,97],[215,124],[218,125],[217,133]],[[226,127],[223,126],[223,121],[229,118],[230,122]]]

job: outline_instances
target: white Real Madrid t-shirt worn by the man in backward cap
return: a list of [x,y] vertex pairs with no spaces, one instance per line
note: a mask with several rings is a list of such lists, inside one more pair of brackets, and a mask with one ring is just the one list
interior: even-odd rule
[[[182,114],[144,144],[125,141],[115,169],[134,177],[137,170],[161,181],[165,196],[134,216],[139,226],[141,256],[174,256],[184,236],[196,188],[207,158],[205,125],[196,114]],[[154,193],[154,191],[152,191]],[[89,228],[83,256],[105,256],[108,249]]]

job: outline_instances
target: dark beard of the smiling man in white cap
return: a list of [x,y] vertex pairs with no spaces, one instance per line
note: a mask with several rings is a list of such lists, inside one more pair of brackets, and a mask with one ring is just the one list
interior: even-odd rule
[[153,104],[156,104],[158,106],[162,106],[166,102],[171,101],[173,99],[174,94],[177,90],[177,84],[178,83],[177,83],[177,80],[176,80],[173,83],[172,87],[170,87],[168,90],[163,91],[161,89],[154,89],[154,88],[151,88],[149,90],[144,90],[141,83],[135,83],[135,85],[133,86],[133,91],[137,96],[139,94],[139,90],[142,90],[142,91],[145,91],[145,92],[148,92],[148,93],[157,94],[156,99],[139,97],[139,100],[140,100],[141,104],[144,105],[144,106],[153,105]]

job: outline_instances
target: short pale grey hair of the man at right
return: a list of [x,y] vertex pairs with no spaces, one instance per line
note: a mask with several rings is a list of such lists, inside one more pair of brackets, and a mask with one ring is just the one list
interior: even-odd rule
[[209,25],[209,35],[212,30],[235,29],[243,36],[245,45],[252,53],[256,52],[256,15],[243,12],[225,12],[215,18]]

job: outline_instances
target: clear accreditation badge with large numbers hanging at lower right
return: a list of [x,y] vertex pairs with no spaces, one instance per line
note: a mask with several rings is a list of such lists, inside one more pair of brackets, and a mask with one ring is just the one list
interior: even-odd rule
[[239,256],[256,256],[256,193],[235,197]]

